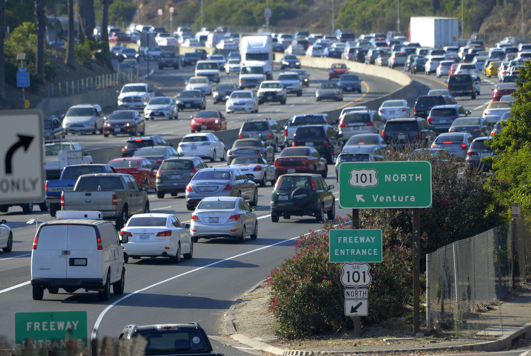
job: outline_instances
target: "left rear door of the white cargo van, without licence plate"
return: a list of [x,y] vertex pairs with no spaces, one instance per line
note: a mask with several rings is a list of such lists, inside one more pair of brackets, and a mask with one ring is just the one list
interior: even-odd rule
[[66,278],[67,225],[43,226],[37,238],[37,248],[31,251],[32,278]]

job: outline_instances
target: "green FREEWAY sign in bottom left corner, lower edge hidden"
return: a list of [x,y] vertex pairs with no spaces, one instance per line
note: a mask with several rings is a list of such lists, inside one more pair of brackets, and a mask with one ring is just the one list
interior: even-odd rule
[[15,312],[15,343],[33,338],[38,345],[64,342],[75,338],[88,346],[86,311]]

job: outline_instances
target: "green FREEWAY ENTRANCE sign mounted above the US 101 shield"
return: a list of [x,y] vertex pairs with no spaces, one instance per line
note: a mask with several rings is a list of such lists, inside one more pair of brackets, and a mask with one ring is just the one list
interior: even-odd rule
[[330,230],[330,262],[382,262],[382,230]]

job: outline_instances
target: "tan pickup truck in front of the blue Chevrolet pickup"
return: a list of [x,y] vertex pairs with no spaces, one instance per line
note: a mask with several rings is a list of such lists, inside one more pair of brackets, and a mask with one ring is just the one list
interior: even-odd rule
[[73,192],[61,195],[61,210],[98,210],[105,220],[115,220],[121,229],[131,215],[149,213],[148,186],[140,187],[126,174],[82,175]]

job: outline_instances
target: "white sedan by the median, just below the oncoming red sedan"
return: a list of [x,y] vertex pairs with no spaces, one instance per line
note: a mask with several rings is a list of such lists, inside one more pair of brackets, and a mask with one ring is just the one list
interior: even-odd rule
[[217,157],[224,161],[227,149],[222,138],[211,133],[200,133],[184,136],[177,152],[188,157],[209,157],[213,162]]

